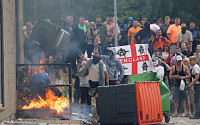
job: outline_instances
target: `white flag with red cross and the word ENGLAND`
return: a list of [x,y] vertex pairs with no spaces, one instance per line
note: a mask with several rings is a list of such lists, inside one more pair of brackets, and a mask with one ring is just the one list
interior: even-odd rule
[[124,75],[134,75],[151,71],[151,56],[147,44],[126,45],[115,48],[116,57],[123,64]]

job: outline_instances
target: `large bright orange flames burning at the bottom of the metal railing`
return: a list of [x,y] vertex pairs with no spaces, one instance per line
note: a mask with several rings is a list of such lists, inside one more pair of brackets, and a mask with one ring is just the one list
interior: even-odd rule
[[57,115],[64,111],[65,108],[69,108],[69,100],[64,96],[57,97],[51,89],[46,91],[46,99],[37,95],[39,100],[33,99],[29,105],[24,105],[22,109],[38,109],[38,108],[50,108],[57,111]]

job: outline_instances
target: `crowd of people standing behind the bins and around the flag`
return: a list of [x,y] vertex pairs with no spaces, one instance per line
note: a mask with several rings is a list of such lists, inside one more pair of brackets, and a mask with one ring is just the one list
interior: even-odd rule
[[[50,22],[49,19],[47,21]],[[157,72],[166,83],[171,91],[170,98],[174,99],[175,111],[172,116],[178,116],[182,101],[184,113],[181,116],[200,119],[200,30],[194,22],[190,22],[187,27],[178,17],[172,20],[166,16],[164,21],[162,18],[153,18],[151,23],[147,18],[142,18],[140,22],[129,17],[125,25],[117,24],[115,30],[112,17],[107,17],[103,22],[101,16],[97,15],[96,22],[89,22],[81,16],[79,23],[72,16],[67,16],[60,20],[59,25],[71,34],[71,49],[62,55],[58,51],[55,56],[59,55],[58,63],[72,65],[75,78],[74,102],[78,103],[81,98],[82,104],[91,105],[88,94],[90,88],[127,83],[122,63],[115,57],[116,50],[111,48],[115,46],[116,31],[119,46],[148,44],[154,65],[152,71]],[[38,63],[40,58],[49,56],[49,50],[54,48],[45,48],[35,41],[31,44],[27,42],[32,27],[31,22],[27,22],[24,46],[36,49],[25,49],[25,58]],[[31,50],[32,56],[28,54]],[[85,52],[87,57],[84,56]],[[182,90],[180,88],[183,85]]]

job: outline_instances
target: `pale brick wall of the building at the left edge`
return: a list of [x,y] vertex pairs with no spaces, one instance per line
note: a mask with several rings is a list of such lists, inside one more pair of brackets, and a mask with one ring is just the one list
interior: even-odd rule
[[2,0],[1,2],[3,11],[5,109],[0,111],[0,121],[4,121],[14,119],[16,113],[16,20],[15,0]]

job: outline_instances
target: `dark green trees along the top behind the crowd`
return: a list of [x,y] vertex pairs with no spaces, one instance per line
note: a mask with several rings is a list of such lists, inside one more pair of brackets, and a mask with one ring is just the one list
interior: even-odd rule
[[[34,1],[24,0],[24,20],[34,20]],[[103,21],[107,16],[114,16],[113,0],[36,0],[37,18],[50,18],[58,23],[61,18],[73,16],[74,20],[84,16],[89,21],[95,21],[96,15],[101,15]],[[142,18],[170,16],[180,17],[181,21],[200,21],[200,2],[198,0],[117,0],[119,23],[126,23],[132,16],[140,21]]]

